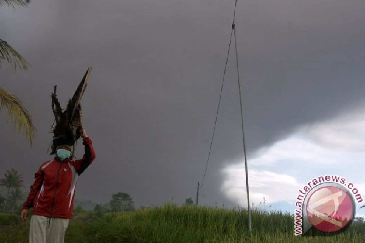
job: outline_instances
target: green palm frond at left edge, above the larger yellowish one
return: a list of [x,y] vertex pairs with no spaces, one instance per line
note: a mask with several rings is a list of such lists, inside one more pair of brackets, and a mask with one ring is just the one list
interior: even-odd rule
[[[1,5],[0,0],[0,5]],[[14,69],[17,67],[27,69],[31,65],[23,58],[14,48],[12,48],[6,41],[0,39],[0,63],[2,60],[7,60],[8,63],[14,63]]]

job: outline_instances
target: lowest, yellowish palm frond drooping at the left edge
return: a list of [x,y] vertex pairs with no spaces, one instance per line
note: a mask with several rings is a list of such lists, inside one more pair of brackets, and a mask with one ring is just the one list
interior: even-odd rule
[[0,110],[5,107],[8,111],[8,121],[12,120],[14,129],[18,131],[23,129],[24,134],[28,138],[30,145],[32,145],[33,138],[37,134],[37,130],[32,122],[31,115],[23,106],[15,95],[8,93],[0,88]]

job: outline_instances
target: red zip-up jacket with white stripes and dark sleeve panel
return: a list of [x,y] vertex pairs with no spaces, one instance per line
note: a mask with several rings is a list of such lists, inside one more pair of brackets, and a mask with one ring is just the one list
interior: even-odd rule
[[72,217],[78,176],[95,158],[91,139],[84,138],[82,144],[85,145],[85,154],[81,160],[72,161],[66,158],[61,161],[55,157],[39,167],[23,209],[33,207],[33,215],[66,219]]

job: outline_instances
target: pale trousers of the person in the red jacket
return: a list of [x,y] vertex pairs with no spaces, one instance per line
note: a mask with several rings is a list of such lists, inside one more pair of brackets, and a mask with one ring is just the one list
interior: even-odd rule
[[69,219],[32,215],[29,243],[64,243]]

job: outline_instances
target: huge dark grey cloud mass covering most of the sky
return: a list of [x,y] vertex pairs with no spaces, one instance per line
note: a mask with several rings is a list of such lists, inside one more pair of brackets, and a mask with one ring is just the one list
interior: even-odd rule
[[[50,93],[61,106],[93,70],[82,98],[96,159],[77,199],[129,193],[137,205],[195,200],[209,151],[234,1],[41,1],[0,10],[0,38],[31,63],[3,63],[0,85],[17,95],[38,130],[30,148],[0,116],[0,175],[14,167],[26,188],[51,159]],[[249,157],[303,124],[364,102],[365,2],[238,1],[236,25]],[[233,49],[232,49],[233,50]],[[81,142],[77,146],[82,156]],[[233,206],[222,169],[243,157],[231,52],[200,203]],[[249,162],[250,163],[250,162]],[[242,175],[244,176],[244,174]]]

